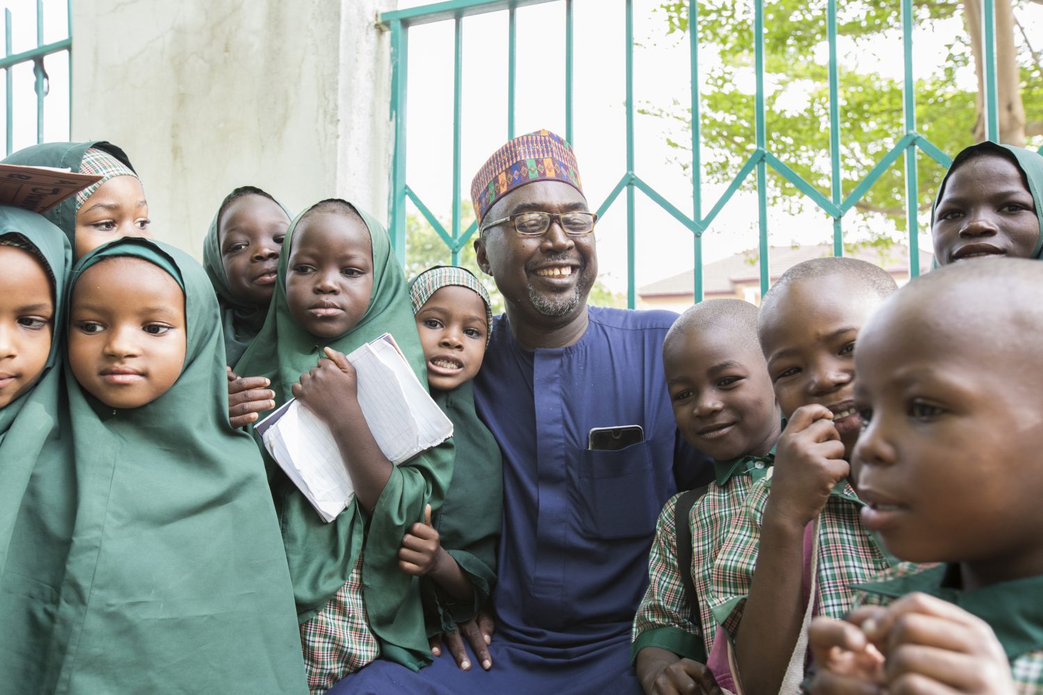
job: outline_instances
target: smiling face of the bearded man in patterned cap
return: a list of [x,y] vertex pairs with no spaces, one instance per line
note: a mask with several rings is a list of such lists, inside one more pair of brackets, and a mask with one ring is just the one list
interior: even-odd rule
[[[516,213],[588,212],[586,198],[562,181],[534,181],[511,191],[485,220]],[[509,222],[490,227],[475,242],[478,263],[492,275],[504,300],[537,323],[566,317],[586,305],[598,279],[595,232],[571,237],[552,221],[541,237],[524,237]]]

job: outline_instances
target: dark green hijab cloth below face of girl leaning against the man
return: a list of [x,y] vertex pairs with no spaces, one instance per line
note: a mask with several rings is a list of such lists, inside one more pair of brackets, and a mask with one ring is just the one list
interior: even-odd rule
[[475,617],[496,582],[496,542],[504,516],[504,462],[492,432],[478,419],[470,381],[452,391],[431,391],[453,421],[456,463],[453,483],[432,524],[445,551],[475,587],[475,600],[459,601],[428,577],[422,582],[428,634],[456,629]]

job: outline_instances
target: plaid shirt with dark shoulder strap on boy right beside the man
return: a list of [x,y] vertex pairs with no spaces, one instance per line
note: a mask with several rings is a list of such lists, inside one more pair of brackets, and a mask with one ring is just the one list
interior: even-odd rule
[[[714,461],[714,480],[688,510],[692,584],[700,599],[709,596],[713,561],[732,519],[742,513],[750,487],[765,476],[774,460],[773,454],[774,450],[767,456]],[[631,631],[631,662],[645,647],[659,647],[705,664],[713,644],[717,623],[709,601],[699,601],[699,624],[695,624],[693,606],[684,593],[678,566],[675,506],[681,494],[666,502],[656,523],[649,553],[649,587],[637,607]]]

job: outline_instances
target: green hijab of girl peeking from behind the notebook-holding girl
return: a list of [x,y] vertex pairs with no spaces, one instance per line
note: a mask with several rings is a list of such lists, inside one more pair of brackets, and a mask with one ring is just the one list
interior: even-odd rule
[[[253,341],[253,337],[261,330],[265,317],[268,315],[267,311],[258,308],[253,304],[248,304],[236,297],[232,292],[232,288],[228,287],[228,276],[224,274],[224,263],[221,260],[221,242],[218,239],[221,212],[228,204],[228,199],[243,189],[247,189],[245,195],[268,195],[264,191],[261,191],[261,189],[253,189],[253,187],[243,187],[229,193],[217,208],[214,220],[210,223],[210,228],[207,230],[207,237],[202,241],[202,265],[207,269],[207,276],[210,278],[211,284],[214,286],[214,292],[217,293],[217,302],[221,305],[221,324],[224,326],[224,350],[227,355],[226,361],[228,366],[235,365],[243,356],[246,348]],[[253,190],[261,191],[261,193],[253,193]],[[271,200],[283,208],[287,217],[292,217],[283,203],[274,198],[271,198]]]

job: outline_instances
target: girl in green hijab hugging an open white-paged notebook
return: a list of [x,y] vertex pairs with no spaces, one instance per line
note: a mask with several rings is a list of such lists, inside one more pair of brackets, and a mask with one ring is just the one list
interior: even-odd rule
[[316,693],[378,654],[413,670],[431,661],[419,579],[398,567],[397,553],[426,505],[441,505],[454,447],[448,440],[401,466],[380,451],[344,355],[385,332],[425,382],[423,352],[387,232],[344,200],[316,203],[290,224],[265,325],[235,370],[267,378],[276,404],[295,396],[322,419],[355,487],[348,507],[323,523],[266,455]]

